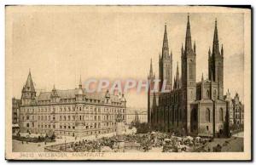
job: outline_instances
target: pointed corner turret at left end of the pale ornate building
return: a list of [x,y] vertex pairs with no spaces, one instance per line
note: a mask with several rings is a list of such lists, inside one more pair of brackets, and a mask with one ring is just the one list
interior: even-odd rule
[[22,105],[32,105],[36,101],[36,90],[32,81],[31,72],[29,71],[26,84],[22,88],[21,103]]

